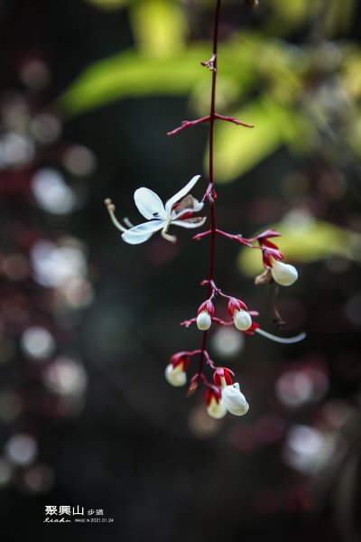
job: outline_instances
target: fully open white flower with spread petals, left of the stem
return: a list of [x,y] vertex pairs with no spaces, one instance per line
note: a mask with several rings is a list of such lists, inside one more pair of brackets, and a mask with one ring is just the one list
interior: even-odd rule
[[190,192],[199,180],[199,177],[200,175],[193,177],[190,182],[188,182],[180,192],[174,194],[165,205],[163,205],[160,197],[152,190],[149,190],[149,188],[138,188],[138,190],[134,192],[135,205],[139,212],[143,214],[143,217],[148,221],[133,226],[125,219],[125,224],[130,225],[130,229],[126,229],[116,220],[114,214],[116,208],[110,200],[106,200],[106,207],[110,217],[116,225],[116,228],[123,232],[122,238],[125,242],[130,243],[131,245],[138,245],[151,238],[153,233],[160,230],[162,230],[163,238],[175,242],[176,238],[167,233],[171,224],[180,226],[181,228],[199,228],[199,226],[203,226],[207,219],[193,217],[192,214],[203,209],[204,204],[195,200],[191,195],[184,197]]

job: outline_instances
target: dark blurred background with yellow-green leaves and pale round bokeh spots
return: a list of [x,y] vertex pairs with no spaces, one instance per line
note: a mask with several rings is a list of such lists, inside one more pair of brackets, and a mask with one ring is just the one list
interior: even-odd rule
[[[199,348],[179,322],[204,299],[208,240],[125,245],[103,204],[139,223],[139,186],[165,201],[201,173],[204,192],[207,128],[166,132],[208,114],[213,8],[0,2],[5,542],[361,540],[359,3],[224,2],[218,111],[256,127],[217,126],[218,226],[279,229],[300,278],[279,294],[282,331],[256,251],[220,239],[217,284],[268,332],[307,332],[213,332],[247,416],[209,418],[202,392],[163,377]],[[47,506],[114,522],[46,525]]]

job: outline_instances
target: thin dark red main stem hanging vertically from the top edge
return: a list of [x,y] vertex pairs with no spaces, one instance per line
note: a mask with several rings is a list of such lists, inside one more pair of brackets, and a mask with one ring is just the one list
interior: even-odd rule
[[[214,280],[214,261],[215,261],[215,243],[216,243],[216,210],[215,201],[212,197],[214,190],[214,177],[213,177],[213,141],[214,141],[214,121],[216,115],[216,85],[217,85],[217,51],[218,51],[218,28],[219,28],[219,14],[220,14],[221,0],[217,0],[215,11],[215,23],[213,33],[213,55],[212,55],[212,91],[210,98],[210,112],[209,112],[209,180],[208,180],[208,200],[210,205],[210,251],[209,251],[209,271],[208,271],[208,297],[212,294],[212,283]],[[199,367],[198,374],[201,374],[203,369],[203,363],[205,358],[205,350],[207,345],[208,331],[203,332],[202,345],[199,355]]]

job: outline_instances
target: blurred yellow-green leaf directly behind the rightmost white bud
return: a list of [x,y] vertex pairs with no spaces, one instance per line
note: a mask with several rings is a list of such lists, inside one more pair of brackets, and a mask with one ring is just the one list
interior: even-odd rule
[[[332,256],[361,261],[361,234],[324,220],[297,220],[291,212],[288,220],[264,229],[268,228],[282,233],[275,243],[286,262],[310,263]],[[261,251],[242,248],[237,263],[243,274],[255,276],[263,269]]]

